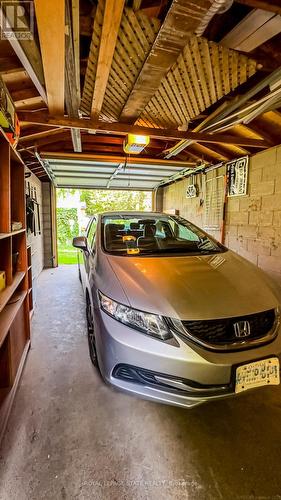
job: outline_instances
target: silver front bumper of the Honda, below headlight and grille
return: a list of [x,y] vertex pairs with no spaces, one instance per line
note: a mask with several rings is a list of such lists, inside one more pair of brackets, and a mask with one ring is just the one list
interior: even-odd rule
[[237,366],[281,353],[281,335],[238,352],[213,352],[187,343],[162,342],[95,310],[99,366],[111,385],[166,404],[191,408],[235,394]]

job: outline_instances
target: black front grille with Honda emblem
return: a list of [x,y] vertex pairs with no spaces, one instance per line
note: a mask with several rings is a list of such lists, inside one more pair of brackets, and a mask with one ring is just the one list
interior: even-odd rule
[[[269,311],[248,316],[203,321],[182,321],[182,324],[187,333],[194,340],[200,341],[200,343],[217,346],[218,348],[233,344],[239,348],[239,344],[244,346],[247,343],[250,347],[251,342],[267,338],[271,333],[273,334],[275,322],[275,310],[270,309]],[[245,323],[247,323],[245,325],[246,335],[243,331]]]

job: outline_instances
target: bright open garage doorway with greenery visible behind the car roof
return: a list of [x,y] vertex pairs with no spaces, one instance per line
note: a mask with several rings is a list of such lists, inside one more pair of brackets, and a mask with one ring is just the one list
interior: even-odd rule
[[85,234],[91,216],[106,211],[151,209],[151,191],[57,189],[58,264],[77,263],[72,240]]

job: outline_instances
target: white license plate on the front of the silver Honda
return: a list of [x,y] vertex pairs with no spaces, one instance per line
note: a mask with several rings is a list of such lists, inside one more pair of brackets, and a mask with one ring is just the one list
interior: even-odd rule
[[280,384],[280,366],[278,358],[262,359],[238,366],[236,369],[235,392],[243,392],[263,385]]

